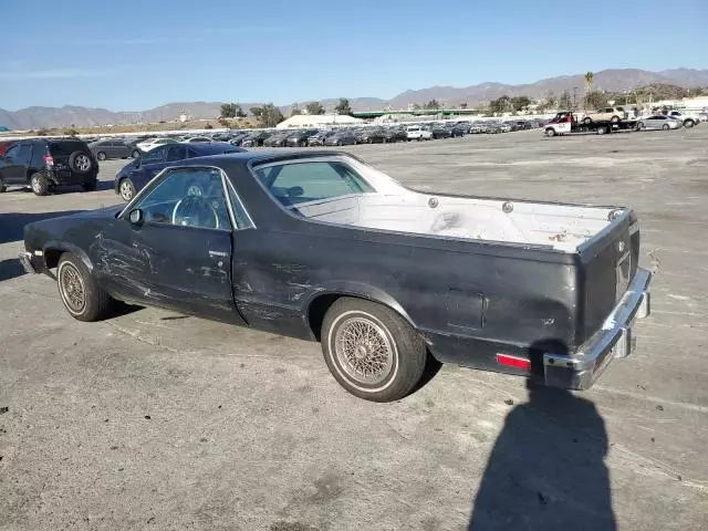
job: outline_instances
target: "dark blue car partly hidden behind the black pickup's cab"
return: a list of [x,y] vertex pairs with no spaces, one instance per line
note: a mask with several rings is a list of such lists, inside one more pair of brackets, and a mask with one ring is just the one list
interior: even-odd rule
[[176,162],[239,152],[243,152],[243,149],[221,142],[165,144],[143,154],[115,174],[115,192],[124,201],[129,201],[153,177]]

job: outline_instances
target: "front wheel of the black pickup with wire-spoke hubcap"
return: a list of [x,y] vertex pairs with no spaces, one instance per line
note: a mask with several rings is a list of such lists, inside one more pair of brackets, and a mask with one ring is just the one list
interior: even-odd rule
[[79,321],[100,321],[110,310],[113,299],[103,291],[88,268],[71,252],[65,252],[56,266],[59,296],[66,311]]

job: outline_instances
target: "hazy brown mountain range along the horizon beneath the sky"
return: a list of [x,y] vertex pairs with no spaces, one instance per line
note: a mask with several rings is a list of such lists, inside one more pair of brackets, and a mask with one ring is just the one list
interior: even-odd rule
[[[673,69],[660,72],[649,72],[636,69],[611,69],[594,74],[593,87],[598,91],[626,91],[652,83],[665,83],[684,86],[687,88],[708,86],[708,70]],[[503,83],[480,83],[466,87],[431,86],[429,88],[405,91],[391,100],[377,97],[350,97],[350,104],[354,111],[378,111],[384,107],[406,108],[408,104],[424,104],[433,98],[444,105],[456,106],[467,103],[473,106],[479,102],[494,100],[502,95],[530,97],[543,97],[563,91],[573,91],[577,87],[582,93],[584,86],[583,73],[562,75],[537,81],[531,84],[507,85]],[[240,103],[244,111],[260,103]],[[333,107],[339,100],[329,98],[320,101],[325,108]],[[148,111],[138,112],[112,112],[105,108],[87,108],[81,106],[63,107],[28,107],[19,111],[4,111],[0,108],[0,125],[12,129],[37,129],[41,127],[62,127],[74,125],[88,127],[106,124],[129,123],[156,123],[171,121],[186,113],[195,118],[216,118],[219,116],[221,103],[225,102],[177,102],[160,105]],[[300,105],[304,106],[302,102]],[[291,105],[280,107],[284,115],[290,114]]]

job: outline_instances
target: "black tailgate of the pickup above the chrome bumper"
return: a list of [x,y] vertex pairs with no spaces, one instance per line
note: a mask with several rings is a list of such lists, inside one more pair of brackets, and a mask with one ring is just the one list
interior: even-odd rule
[[629,208],[577,248],[579,312],[575,344],[591,337],[604,323],[634,279],[639,259],[639,226]]

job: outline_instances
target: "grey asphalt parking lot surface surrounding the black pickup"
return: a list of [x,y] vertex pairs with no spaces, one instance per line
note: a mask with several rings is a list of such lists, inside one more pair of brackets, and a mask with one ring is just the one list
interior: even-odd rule
[[315,343],[154,309],[74,321],[15,257],[24,223],[119,202],[106,162],[95,192],[0,195],[0,529],[706,529],[708,124],[346,150],[424,190],[634,206],[655,273],[637,352],[585,393],[444,366],[373,404]]

